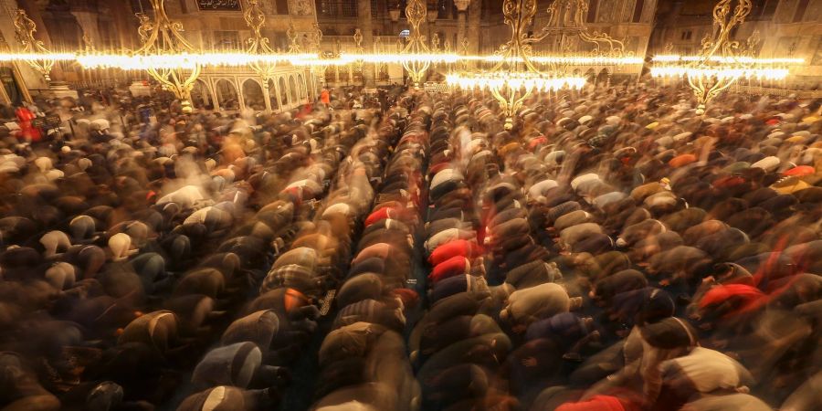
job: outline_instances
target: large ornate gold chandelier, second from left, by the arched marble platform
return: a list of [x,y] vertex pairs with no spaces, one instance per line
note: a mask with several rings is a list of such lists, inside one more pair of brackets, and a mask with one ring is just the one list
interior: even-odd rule
[[[164,0],[150,0],[154,12],[153,20],[149,16],[138,14],[141,25],[137,29],[142,40],[142,47],[133,54],[142,56],[186,55],[194,52],[195,47],[183,35],[183,25],[172,22],[165,13]],[[183,105],[183,112],[193,111],[191,90],[200,76],[202,66],[195,59],[182,61],[179,64],[152,64],[146,67],[149,75],[160,82],[163,88],[174,93]]]

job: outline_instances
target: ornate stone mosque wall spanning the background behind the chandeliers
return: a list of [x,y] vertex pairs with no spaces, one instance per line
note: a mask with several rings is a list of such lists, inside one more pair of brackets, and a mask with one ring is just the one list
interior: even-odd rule
[[[367,2],[368,7],[359,2]],[[553,0],[539,0],[532,32],[545,25],[547,7]],[[714,0],[583,0],[587,6],[585,25],[591,31],[606,33],[625,41],[628,51],[638,57],[670,51],[680,54],[699,52],[701,38],[711,31],[710,16]],[[455,0],[427,2],[430,6],[427,22],[422,31],[429,39],[439,38],[440,48],[461,52],[459,27],[466,25],[467,50],[470,53],[492,53],[510,37],[510,29],[502,23],[501,2],[498,0],[470,0],[468,5]],[[570,2],[575,4],[575,2]],[[38,0],[19,2],[2,0],[2,16],[8,24],[0,26],[0,35],[16,47],[12,16],[8,10],[18,5],[26,7],[38,27],[38,36],[47,47],[55,50],[96,49],[122,50],[139,47],[135,13],[147,11],[149,0],[63,2]],[[215,6],[216,5],[216,6]],[[184,36],[203,49],[242,50],[250,30],[243,19],[246,0],[214,2],[212,0],[166,0],[169,15],[183,23]],[[367,21],[372,27],[373,40],[364,44],[364,51],[393,52],[402,44],[409,29],[404,16],[406,0],[271,0],[260,3],[266,13],[263,34],[269,37],[276,50],[288,48],[286,31],[293,25],[300,45],[309,47],[313,25],[319,24],[324,33],[321,47],[325,51],[353,49],[353,32]],[[458,6],[464,8],[460,11]],[[367,10],[369,16],[360,16]],[[59,24],[58,24],[59,23]],[[822,0],[760,0],[754,2],[754,11],[734,34],[736,38],[749,37],[758,30],[763,38],[761,57],[799,57],[806,63],[792,68],[790,80],[780,84],[786,88],[813,88],[822,80]],[[50,36],[57,30],[60,36]],[[766,36],[764,34],[767,34]],[[83,37],[87,38],[84,40]],[[535,47],[540,50],[540,45]],[[17,65],[21,81],[29,89],[46,85],[36,72],[25,65]],[[582,72],[600,73],[602,68],[579,67]],[[642,67],[609,68],[617,75],[638,76]],[[294,70],[297,74],[299,70]],[[435,67],[431,80],[439,80],[447,68]],[[58,64],[52,78],[69,84],[88,84],[100,73],[84,72],[76,65]],[[104,75],[111,75],[105,73]],[[385,86],[403,81],[403,68],[398,64],[366,65],[363,73],[356,68],[314,69],[306,81],[310,95],[323,85],[332,87],[364,84]],[[120,75],[120,77],[128,75]],[[358,83],[358,81],[360,83]],[[368,83],[368,84],[365,84]],[[239,86],[238,84],[236,85]],[[265,89],[265,88],[264,88]]]

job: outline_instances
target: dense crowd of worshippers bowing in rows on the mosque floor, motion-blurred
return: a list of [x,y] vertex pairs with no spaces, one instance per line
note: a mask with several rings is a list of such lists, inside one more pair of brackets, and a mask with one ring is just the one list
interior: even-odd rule
[[822,408],[819,100],[159,106],[0,127],[0,410]]

